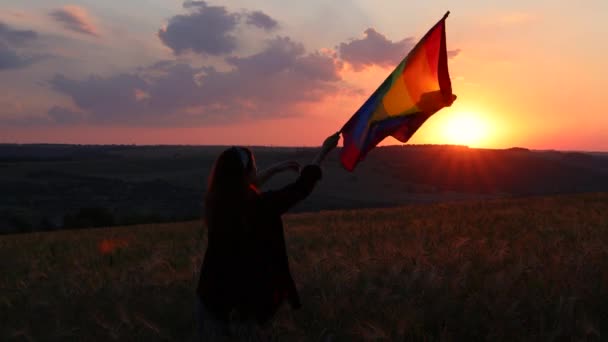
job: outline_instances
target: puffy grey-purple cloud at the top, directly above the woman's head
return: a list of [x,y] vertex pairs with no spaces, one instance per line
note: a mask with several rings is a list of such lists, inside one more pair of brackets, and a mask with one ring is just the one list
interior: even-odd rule
[[222,55],[236,49],[236,28],[239,16],[225,7],[208,6],[204,1],[188,1],[184,8],[188,14],[176,15],[158,37],[176,55],[193,51],[203,55]]

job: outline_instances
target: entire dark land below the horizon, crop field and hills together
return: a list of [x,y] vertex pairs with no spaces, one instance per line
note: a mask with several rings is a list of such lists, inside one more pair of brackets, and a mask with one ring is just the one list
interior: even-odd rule
[[[0,339],[195,340],[201,199],[222,149],[3,145]],[[253,150],[261,166],[315,153]],[[279,311],[275,340],[605,337],[605,155],[389,146],[367,160],[347,173],[331,155],[285,216],[304,307]]]

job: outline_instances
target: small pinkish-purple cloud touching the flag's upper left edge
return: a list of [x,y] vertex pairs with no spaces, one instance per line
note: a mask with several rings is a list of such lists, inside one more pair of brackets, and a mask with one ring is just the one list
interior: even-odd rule
[[368,28],[365,30],[365,38],[340,43],[337,48],[343,60],[350,63],[355,70],[361,70],[374,64],[394,66],[405,57],[414,44],[412,37],[392,42],[373,28]]

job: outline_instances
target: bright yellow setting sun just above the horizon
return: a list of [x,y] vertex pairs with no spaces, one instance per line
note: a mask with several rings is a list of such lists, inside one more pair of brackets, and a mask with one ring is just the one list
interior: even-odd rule
[[451,145],[480,147],[486,143],[488,125],[484,118],[473,112],[454,112],[443,123],[443,139]]

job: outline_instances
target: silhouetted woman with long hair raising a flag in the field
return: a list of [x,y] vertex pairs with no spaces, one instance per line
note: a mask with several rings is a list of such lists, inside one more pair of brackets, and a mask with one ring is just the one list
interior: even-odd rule
[[325,139],[297,180],[276,191],[258,187],[278,172],[299,170],[296,162],[257,173],[249,149],[231,147],[218,157],[205,197],[208,244],[197,287],[204,340],[259,340],[259,328],[284,301],[294,309],[301,306],[281,215],[311,193],[321,179],[321,162],[339,139],[339,132]]

